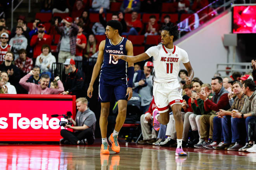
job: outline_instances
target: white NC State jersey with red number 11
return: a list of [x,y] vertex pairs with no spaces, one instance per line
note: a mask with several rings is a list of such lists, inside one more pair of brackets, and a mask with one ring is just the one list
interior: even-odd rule
[[189,62],[187,52],[178,46],[168,49],[160,44],[150,47],[145,53],[150,57],[153,56],[153,81],[157,83],[168,83],[178,80],[180,62]]

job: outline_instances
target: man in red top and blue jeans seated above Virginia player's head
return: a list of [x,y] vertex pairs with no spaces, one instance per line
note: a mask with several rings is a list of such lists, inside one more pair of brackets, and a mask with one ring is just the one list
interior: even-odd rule
[[126,21],[126,25],[130,28],[129,32],[123,32],[122,36],[138,35],[138,32],[142,29],[142,22],[138,19],[138,13],[133,11],[131,13],[131,22]]

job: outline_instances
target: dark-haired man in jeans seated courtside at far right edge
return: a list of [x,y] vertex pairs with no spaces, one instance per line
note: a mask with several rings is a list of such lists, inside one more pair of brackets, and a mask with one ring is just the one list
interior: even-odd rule
[[[253,80],[247,79],[244,80],[242,89],[244,94],[247,95],[247,98],[244,101],[244,107],[240,113],[233,111],[232,117],[245,119],[247,133],[246,141],[248,141],[250,140],[248,139],[248,124],[250,121],[256,119],[256,85]],[[251,148],[251,146],[253,146],[252,141],[246,143],[246,145],[240,148],[239,151],[246,151],[247,149]]]

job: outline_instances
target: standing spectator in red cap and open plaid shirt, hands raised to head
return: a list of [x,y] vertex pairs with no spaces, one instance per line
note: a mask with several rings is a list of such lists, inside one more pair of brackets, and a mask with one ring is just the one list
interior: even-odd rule
[[58,20],[55,20],[55,28],[61,37],[59,39],[56,51],[59,52],[58,62],[64,63],[68,58],[74,59],[76,54],[76,37],[78,26],[73,22],[71,17],[62,20],[65,26],[58,26]]

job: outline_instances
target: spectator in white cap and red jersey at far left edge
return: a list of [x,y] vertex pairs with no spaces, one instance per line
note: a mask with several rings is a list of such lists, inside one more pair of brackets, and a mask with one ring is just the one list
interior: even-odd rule
[[9,40],[9,35],[7,33],[2,33],[0,39],[0,64],[2,64],[4,61],[5,54],[11,50],[12,46],[7,44]]

